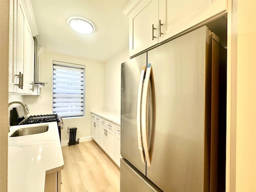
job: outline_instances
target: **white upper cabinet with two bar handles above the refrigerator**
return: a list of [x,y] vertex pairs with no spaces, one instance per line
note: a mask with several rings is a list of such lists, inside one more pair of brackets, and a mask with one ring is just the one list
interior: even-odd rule
[[123,13],[129,16],[129,56],[156,46],[227,10],[227,0],[131,0]]

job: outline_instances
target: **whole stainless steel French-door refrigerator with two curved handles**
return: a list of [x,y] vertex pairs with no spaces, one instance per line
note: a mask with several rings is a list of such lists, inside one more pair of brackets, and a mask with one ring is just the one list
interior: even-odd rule
[[120,192],[225,189],[226,50],[202,26],[121,65]]

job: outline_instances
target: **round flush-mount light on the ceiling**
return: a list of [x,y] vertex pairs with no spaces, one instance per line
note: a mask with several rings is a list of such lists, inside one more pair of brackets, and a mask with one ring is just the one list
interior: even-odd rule
[[70,18],[68,20],[69,26],[79,33],[91,33],[94,31],[93,24],[84,18]]

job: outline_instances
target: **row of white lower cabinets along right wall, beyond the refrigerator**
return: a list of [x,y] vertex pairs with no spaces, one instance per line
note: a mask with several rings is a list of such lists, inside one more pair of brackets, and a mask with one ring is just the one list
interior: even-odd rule
[[92,139],[120,167],[120,125],[92,113],[91,127]]

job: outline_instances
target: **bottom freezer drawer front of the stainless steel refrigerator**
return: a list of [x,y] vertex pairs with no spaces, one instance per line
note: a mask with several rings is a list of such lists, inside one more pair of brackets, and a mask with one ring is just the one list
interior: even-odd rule
[[120,192],[162,192],[123,158],[120,160]]

